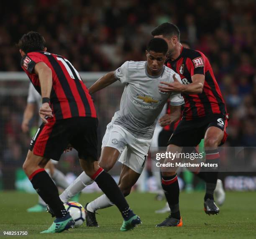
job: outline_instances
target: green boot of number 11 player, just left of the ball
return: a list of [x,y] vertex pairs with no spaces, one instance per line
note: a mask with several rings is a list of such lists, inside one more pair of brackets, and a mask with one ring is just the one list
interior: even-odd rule
[[75,222],[68,212],[64,218],[56,218],[47,230],[40,233],[60,233],[69,228],[74,228],[74,224]]

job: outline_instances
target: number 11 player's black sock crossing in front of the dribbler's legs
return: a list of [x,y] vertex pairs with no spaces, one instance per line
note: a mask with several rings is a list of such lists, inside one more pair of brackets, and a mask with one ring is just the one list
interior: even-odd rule
[[120,191],[120,188],[110,174],[108,174],[102,168],[99,168],[95,175],[92,176],[92,179],[97,183],[108,199],[118,207],[124,220],[129,220],[135,215],[130,209],[125,197],[123,196],[123,193]]

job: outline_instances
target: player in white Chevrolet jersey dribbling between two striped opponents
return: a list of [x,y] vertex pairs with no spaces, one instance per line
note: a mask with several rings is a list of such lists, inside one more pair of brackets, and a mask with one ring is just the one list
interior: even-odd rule
[[[151,39],[146,51],[147,61],[126,61],[115,71],[102,76],[89,88],[92,94],[117,80],[125,85],[120,110],[115,112],[103,137],[99,160],[100,167],[108,171],[121,154],[119,162],[123,166],[118,185],[125,196],[130,193],[144,168],[157,117],[164,104],[170,99],[173,108],[172,121],[179,119],[180,106],[184,104],[179,92],[163,94],[158,89],[161,81],[181,82],[178,74],[175,75],[172,69],[164,66],[167,50],[166,41],[161,38]],[[92,179],[82,173],[60,195],[61,200],[68,201],[71,196],[91,183]],[[87,203],[87,226],[98,226],[95,211],[112,205],[105,194]]]

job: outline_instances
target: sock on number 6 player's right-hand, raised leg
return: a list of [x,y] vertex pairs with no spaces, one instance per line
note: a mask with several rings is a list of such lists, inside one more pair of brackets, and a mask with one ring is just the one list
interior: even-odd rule
[[219,163],[220,163],[220,154],[218,149],[215,150],[205,150],[206,154],[206,164],[212,164],[211,166],[205,167],[205,181],[206,181],[206,192],[205,198],[214,199],[213,193],[216,188],[216,183],[218,179],[218,170],[219,170]]

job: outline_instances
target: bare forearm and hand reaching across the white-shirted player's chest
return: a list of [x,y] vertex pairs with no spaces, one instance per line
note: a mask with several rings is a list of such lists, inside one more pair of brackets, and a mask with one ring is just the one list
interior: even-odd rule
[[161,92],[182,92],[186,94],[201,94],[204,83],[205,83],[205,75],[202,74],[195,74],[192,76],[192,83],[191,84],[181,84],[177,77],[173,76],[174,82],[168,83],[161,81],[161,84],[159,85],[159,90]]

